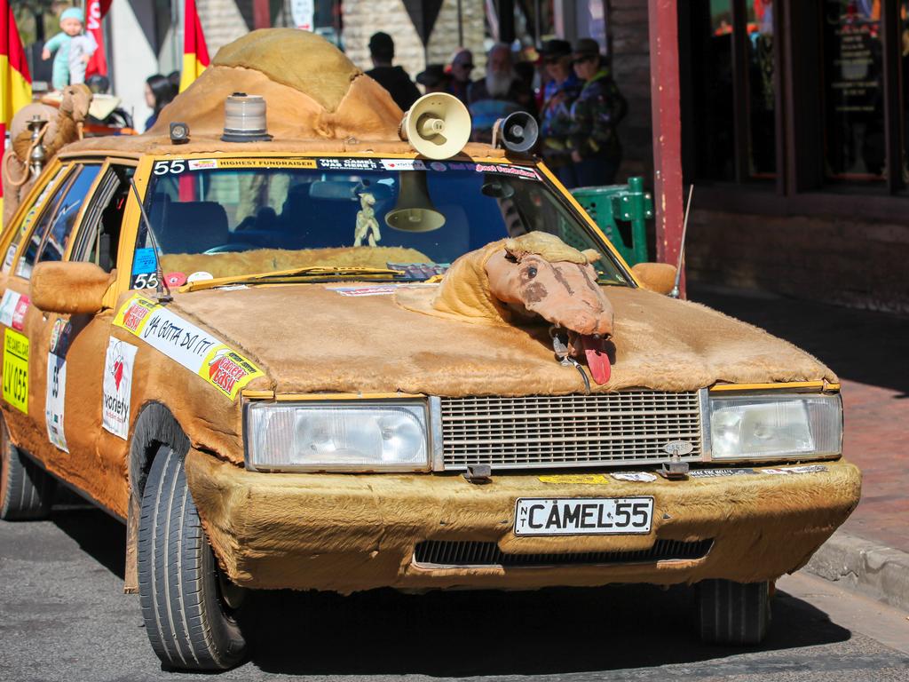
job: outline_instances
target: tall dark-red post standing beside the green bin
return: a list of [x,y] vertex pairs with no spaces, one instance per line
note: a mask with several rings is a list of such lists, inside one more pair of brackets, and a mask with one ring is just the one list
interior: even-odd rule
[[[654,126],[656,259],[677,265],[682,243],[682,119],[676,0],[647,0]],[[684,298],[684,273],[680,283]]]

